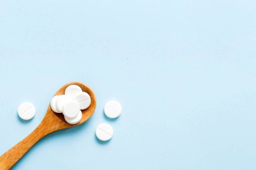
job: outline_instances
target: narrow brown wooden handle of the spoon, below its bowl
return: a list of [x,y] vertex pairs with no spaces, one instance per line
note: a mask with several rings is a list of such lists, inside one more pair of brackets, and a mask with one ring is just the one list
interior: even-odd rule
[[11,169],[15,163],[17,163],[27,152],[46,134],[49,134],[48,130],[43,128],[41,124],[24,140],[9,149],[6,153],[0,157],[0,169]]

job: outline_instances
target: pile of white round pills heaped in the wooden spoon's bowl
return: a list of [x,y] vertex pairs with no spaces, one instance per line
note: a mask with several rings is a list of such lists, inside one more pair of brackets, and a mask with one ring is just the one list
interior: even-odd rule
[[65,95],[55,95],[51,100],[53,112],[61,114],[69,124],[77,124],[82,119],[82,111],[91,104],[91,97],[78,85],[69,85]]

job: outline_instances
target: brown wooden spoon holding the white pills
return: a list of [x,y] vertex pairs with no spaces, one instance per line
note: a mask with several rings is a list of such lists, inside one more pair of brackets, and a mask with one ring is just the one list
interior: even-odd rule
[[36,142],[38,142],[38,140],[40,140],[47,134],[50,134],[51,132],[55,132],[57,130],[78,126],[86,122],[92,116],[96,108],[96,97],[92,89],[90,89],[90,87],[88,87],[84,83],[67,83],[66,85],[61,87],[61,89],[59,89],[59,91],[57,91],[55,95],[63,95],[65,93],[65,89],[69,85],[78,85],[91,97],[92,102],[90,104],[90,107],[86,110],[82,110],[82,120],[78,124],[68,124],[65,121],[63,114],[56,114],[55,112],[53,112],[53,110],[51,110],[51,106],[49,105],[44,119],[38,125],[38,127],[31,134],[26,136],[24,140],[20,141],[18,144],[10,148],[9,151],[4,153],[0,157],[1,170],[10,169],[11,167],[13,167],[13,165],[15,165],[15,163],[17,163],[28,152],[28,150],[30,150],[30,148],[32,148],[32,146],[36,144]]

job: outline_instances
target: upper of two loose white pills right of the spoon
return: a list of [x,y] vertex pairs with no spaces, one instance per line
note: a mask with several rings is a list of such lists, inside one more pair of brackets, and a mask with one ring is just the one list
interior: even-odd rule
[[104,106],[104,113],[108,118],[117,118],[122,112],[122,106],[117,101],[108,101]]

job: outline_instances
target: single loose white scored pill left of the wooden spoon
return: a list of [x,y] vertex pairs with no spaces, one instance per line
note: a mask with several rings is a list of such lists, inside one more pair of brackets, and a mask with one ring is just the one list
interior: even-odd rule
[[34,114],[36,114],[36,108],[32,103],[24,102],[18,108],[18,115],[23,120],[30,120],[34,118]]

